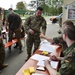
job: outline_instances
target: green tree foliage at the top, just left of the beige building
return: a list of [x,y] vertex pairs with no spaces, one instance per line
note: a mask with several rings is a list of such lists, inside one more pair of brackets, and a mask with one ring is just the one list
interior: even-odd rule
[[[48,4],[43,4],[42,7],[44,9],[44,14],[45,15],[58,15],[60,13],[62,13],[62,4],[63,4],[63,0],[60,0],[59,3],[61,3],[61,5],[56,5],[56,3],[59,2],[58,0],[52,0],[52,4],[51,4],[51,0],[49,0]],[[50,5],[49,5],[50,4]]]

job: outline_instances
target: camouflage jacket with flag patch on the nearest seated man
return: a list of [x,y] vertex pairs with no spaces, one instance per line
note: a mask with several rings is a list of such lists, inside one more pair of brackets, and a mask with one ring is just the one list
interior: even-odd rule
[[64,51],[64,55],[57,75],[75,75],[75,43]]

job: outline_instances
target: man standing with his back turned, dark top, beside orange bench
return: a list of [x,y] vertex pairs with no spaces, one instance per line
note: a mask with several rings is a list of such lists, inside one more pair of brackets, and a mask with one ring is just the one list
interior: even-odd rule
[[[7,29],[7,25],[8,25],[8,29],[9,29],[9,40],[8,41],[12,41],[13,39],[13,34],[15,33],[15,37],[18,40],[18,45],[19,45],[19,53],[22,52],[22,43],[20,40],[21,37],[21,27],[22,27],[22,20],[20,18],[20,16],[17,13],[13,12],[12,8],[9,8],[9,14],[7,15],[7,19],[6,19],[6,29]],[[11,46],[9,47],[9,52],[11,52]]]

